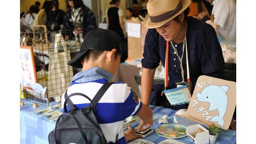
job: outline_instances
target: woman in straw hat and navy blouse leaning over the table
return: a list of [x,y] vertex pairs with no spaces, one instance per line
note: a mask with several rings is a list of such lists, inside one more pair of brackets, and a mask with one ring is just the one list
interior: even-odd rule
[[[212,26],[194,17],[187,17],[190,0],[150,0],[144,26],[149,28],[145,38],[142,59],[142,103],[149,105],[153,87],[153,77],[159,62],[165,67],[166,47],[168,55],[168,89],[176,83],[187,81],[186,48],[191,81],[191,92],[197,78],[208,75],[224,79],[224,58],[217,35]],[[185,34],[186,33],[186,34]],[[186,41],[185,41],[186,36]],[[184,44],[185,43],[185,44]],[[179,57],[182,57],[182,65]],[[183,74],[181,74],[184,72]],[[167,79],[168,80],[168,79]],[[165,96],[160,97],[166,99]],[[187,105],[169,105],[172,109],[186,109]],[[140,127],[145,123],[141,121]]]

